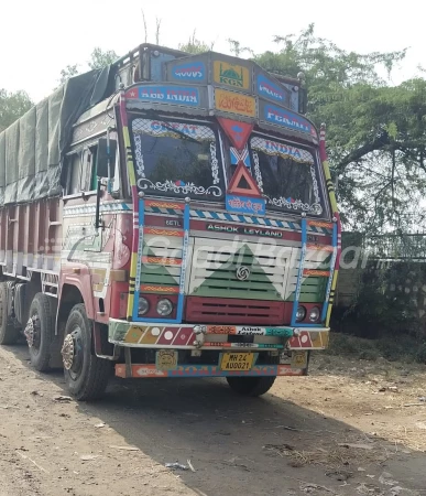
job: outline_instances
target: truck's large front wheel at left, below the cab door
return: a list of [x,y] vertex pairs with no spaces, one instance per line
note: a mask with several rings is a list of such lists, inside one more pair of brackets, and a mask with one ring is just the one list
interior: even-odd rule
[[111,363],[92,353],[91,338],[85,305],[75,305],[65,326],[62,356],[67,388],[81,401],[102,397],[111,371]]

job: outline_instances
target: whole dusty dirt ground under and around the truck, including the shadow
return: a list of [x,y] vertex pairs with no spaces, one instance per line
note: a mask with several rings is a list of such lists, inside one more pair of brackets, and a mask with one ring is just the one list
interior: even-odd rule
[[260,399],[219,379],[116,380],[78,405],[25,347],[0,364],[1,496],[426,495],[426,367],[319,355]]

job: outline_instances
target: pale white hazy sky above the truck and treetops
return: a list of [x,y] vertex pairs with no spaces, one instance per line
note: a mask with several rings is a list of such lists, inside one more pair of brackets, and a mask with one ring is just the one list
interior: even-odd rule
[[[253,6],[253,7],[251,7]],[[254,7],[256,6],[256,7]],[[426,66],[426,7],[419,0],[20,0],[0,8],[0,88],[25,90],[33,100],[57,86],[61,69],[87,61],[95,46],[124,55],[148,41],[177,47],[194,30],[196,37],[215,42],[215,51],[229,53],[228,39],[254,53],[276,50],[274,35],[297,34],[309,23],[316,33],[339,47],[359,53],[409,48],[395,71],[393,84]]]

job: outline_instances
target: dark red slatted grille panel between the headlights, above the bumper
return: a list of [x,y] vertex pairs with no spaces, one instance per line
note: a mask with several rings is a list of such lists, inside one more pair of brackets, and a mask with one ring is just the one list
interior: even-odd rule
[[188,296],[185,320],[203,324],[281,325],[284,302]]

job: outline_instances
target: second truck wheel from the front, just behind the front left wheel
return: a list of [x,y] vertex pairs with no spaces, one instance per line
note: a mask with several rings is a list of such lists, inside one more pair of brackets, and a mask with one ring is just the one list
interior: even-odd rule
[[31,365],[39,371],[50,369],[52,346],[55,341],[55,302],[36,293],[30,306],[24,334],[30,348]]

